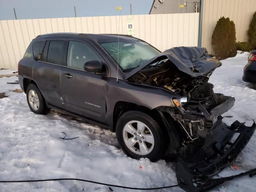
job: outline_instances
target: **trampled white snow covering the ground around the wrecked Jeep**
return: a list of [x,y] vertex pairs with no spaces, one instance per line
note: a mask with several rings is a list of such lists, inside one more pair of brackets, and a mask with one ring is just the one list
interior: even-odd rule
[[[214,91],[236,97],[234,107],[224,118],[230,124],[234,120],[251,126],[256,119],[256,90],[242,81],[243,68],[248,53],[222,61],[210,78]],[[0,89],[3,81],[0,78]],[[13,81],[13,80],[10,80]],[[2,83],[2,84],[1,84]],[[3,89],[3,88],[2,88]],[[118,147],[114,133],[86,124],[56,111],[43,116],[32,113],[24,93],[10,92],[0,99],[0,180],[28,180],[48,178],[81,178],[131,187],[158,187],[176,184],[175,166],[160,160],[152,163],[147,159],[134,160]],[[1,92],[1,91],[0,91]],[[62,140],[79,136],[74,140]],[[220,176],[237,174],[256,167],[256,135],[238,156],[233,166]],[[130,192],[112,188],[115,192]],[[110,192],[107,186],[77,181],[0,183],[1,192]],[[155,190],[182,192],[180,188]],[[226,182],[214,192],[256,191],[256,177],[248,176]]]

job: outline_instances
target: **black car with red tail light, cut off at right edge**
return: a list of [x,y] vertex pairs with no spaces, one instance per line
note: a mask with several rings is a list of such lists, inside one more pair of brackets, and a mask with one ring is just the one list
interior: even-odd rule
[[256,84],[256,50],[250,51],[248,64],[244,67],[243,80]]

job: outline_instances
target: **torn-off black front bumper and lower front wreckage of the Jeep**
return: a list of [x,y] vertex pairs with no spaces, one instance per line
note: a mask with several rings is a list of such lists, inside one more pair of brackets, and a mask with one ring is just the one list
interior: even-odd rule
[[[231,126],[222,122],[221,115],[232,108],[235,98],[223,94],[215,94],[215,98],[217,106],[210,112],[194,101],[177,108],[158,108],[170,138],[175,141],[179,137],[172,134],[181,134],[178,141],[183,145],[174,146],[178,141],[170,140],[168,151],[172,154],[176,149],[176,178],[180,188],[188,192],[207,191],[221,184],[222,180],[213,180],[211,177],[238,156],[256,129],[255,122],[251,127],[238,121]],[[171,126],[175,121],[180,129]],[[175,131],[179,133],[175,134]]]

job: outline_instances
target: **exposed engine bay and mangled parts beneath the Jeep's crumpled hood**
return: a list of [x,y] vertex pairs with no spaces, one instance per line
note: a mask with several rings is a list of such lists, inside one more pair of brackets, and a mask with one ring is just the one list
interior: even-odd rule
[[211,117],[211,110],[229,98],[214,94],[214,86],[208,83],[210,74],[192,77],[178,70],[169,59],[164,59],[147,66],[129,80],[162,87],[182,96],[182,105],[169,113],[184,128],[189,142],[206,137],[208,129],[218,120],[218,116]]

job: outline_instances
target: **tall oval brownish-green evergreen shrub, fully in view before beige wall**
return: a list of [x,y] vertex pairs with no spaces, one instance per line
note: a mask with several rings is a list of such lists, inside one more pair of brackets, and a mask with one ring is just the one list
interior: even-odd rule
[[212,34],[212,47],[217,58],[236,55],[236,28],[229,18],[220,18]]

